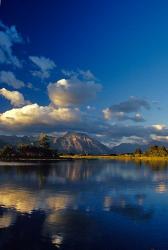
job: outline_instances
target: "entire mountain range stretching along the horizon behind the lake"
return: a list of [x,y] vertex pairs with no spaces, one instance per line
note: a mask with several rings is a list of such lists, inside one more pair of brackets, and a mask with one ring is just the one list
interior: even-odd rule
[[[84,133],[68,132],[60,137],[49,137],[52,148],[56,149],[59,153],[64,154],[123,154],[134,152],[135,149],[141,148],[145,151],[150,145],[164,145],[168,147],[168,143],[151,141],[149,144],[132,144],[121,143],[113,148],[108,148],[103,143],[95,138],[92,138]],[[0,147],[5,145],[17,145],[20,143],[31,144],[36,143],[37,137],[33,136],[7,136],[0,135]]]

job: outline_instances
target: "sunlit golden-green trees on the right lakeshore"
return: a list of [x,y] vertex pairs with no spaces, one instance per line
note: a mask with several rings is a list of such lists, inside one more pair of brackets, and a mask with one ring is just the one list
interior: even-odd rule
[[137,148],[133,153],[135,156],[168,157],[168,149],[165,146],[150,146],[145,152]]

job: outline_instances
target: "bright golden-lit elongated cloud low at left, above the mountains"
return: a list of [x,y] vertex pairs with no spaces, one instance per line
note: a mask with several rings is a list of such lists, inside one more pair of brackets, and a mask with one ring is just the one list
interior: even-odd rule
[[14,108],[0,114],[0,128],[8,130],[22,131],[22,129],[33,126],[56,126],[75,122],[79,119],[78,110],[69,108],[54,108],[52,106],[39,106],[38,104],[29,104],[22,108]]

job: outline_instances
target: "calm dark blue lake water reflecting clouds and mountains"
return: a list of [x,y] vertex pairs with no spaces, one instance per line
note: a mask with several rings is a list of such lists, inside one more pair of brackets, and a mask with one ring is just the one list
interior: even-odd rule
[[167,250],[168,168],[0,163],[0,249]]

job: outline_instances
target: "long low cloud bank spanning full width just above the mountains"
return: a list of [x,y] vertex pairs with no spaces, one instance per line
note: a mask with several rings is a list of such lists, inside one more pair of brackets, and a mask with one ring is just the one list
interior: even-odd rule
[[109,124],[101,117],[89,115],[73,107],[40,106],[29,104],[13,108],[0,114],[0,130],[19,133],[80,131],[98,136],[107,145],[114,146],[122,142],[149,143],[152,140],[167,140],[168,127],[162,129],[155,125]]

